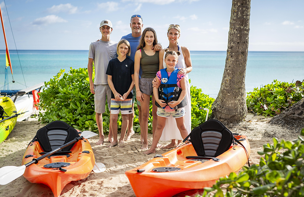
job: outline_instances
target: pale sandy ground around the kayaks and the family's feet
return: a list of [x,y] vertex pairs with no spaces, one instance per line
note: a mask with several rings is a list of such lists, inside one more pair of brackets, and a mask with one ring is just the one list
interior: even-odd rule
[[[272,143],[272,137],[285,140],[297,138],[300,129],[283,128],[268,123],[270,119],[263,116],[247,115],[247,118],[238,124],[226,125],[232,132],[247,135],[250,147],[250,164],[258,164],[260,155],[257,151],[263,150],[263,144]],[[6,165],[20,166],[24,152],[28,143],[36,135],[36,131],[44,125],[38,121],[17,122],[15,128],[8,138],[0,144],[0,167]],[[106,136],[107,137],[107,136]],[[152,135],[149,147],[152,143]],[[130,141],[126,142],[124,148],[115,146],[107,148],[109,142],[103,145],[96,145],[98,136],[89,139],[95,154],[95,161],[105,164],[105,172],[94,173],[79,181],[73,181],[61,192],[61,197],[81,197],[81,196],[124,196],[135,197],[133,189],[125,175],[126,170],[133,169],[148,160],[155,154],[145,155],[140,150],[140,135],[135,134]],[[169,142],[160,141],[162,145]],[[157,154],[167,152],[167,150],[157,149]],[[140,183],[139,183],[140,184]],[[175,196],[195,196],[202,194],[200,190],[190,190]],[[23,176],[17,178],[7,185],[0,185],[0,196],[6,197],[52,197],[54,196],[50,188],[43,184],[33,184],[28,182]]]

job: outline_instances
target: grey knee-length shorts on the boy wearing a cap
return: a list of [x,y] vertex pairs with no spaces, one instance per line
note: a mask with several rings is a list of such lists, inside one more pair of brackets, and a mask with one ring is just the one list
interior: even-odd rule
[[111,88],[106,85],[94,85],[94,105],[95,112],[99,114],[105,113],[105,100],[108,102],[109,112],[111,111]]

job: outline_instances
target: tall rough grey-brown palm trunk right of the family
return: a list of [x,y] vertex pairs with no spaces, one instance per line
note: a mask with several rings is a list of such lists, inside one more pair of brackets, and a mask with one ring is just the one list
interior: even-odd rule
[[235,122],[247,115],[245,75],[249,45],[250,0],[233,0],[228,49],[221,88],[212,118]]

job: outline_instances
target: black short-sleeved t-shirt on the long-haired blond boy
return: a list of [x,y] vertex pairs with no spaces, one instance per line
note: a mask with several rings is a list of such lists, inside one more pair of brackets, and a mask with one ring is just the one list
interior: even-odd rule
[[[123,96],[124,93],[128,92],[132,83],[131,75],[134,74],[134,62],[129,58],[126,58],[122,62],[120,62],[118,58],[111,59],[105,74],[112,76],[115,90]],[[131,91],[127,99],[132,99],[132,96]],[[115,99],[113,92],[111,98]]]

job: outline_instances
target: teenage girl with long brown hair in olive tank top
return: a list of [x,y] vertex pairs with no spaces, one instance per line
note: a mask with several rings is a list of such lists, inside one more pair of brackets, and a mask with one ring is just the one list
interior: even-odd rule
[[[155,52],[152,48],[157,44],[156,33],[153,28],[147,27],[143,30],[140,38],[140,44],[137,47],[134,58],[134,81],[136,87],[136,99],[141,106],[141,123],[140,132],[143,134],[143,146],[141,149],[148,149],[148,120],[150,114],[150,95],[152,95],[152,131],[157,126],[157,106],[152,94],[152,81],[159,71],[159,52]],[[139,69],[142,68],[143,74],[139,79]],[[160,146],[158,146],[160,147]]]

